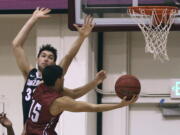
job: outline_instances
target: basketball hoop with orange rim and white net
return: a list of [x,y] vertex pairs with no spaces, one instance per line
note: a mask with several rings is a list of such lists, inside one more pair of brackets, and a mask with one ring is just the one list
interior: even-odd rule
[[129,7],[128,13],[138,24],[145,37],[145,52],[153,54],[155,60],[169,60],[167,37],[174,22],[177,7],[137,6]]

